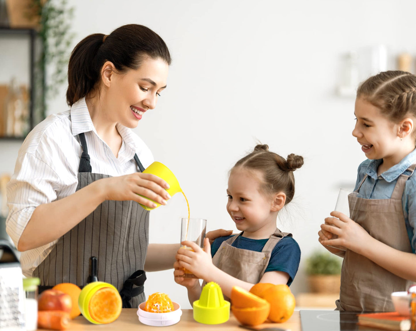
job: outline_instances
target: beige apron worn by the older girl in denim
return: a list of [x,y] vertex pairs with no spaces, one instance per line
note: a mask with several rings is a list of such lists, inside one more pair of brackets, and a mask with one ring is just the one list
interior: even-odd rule
[[[416,164],[397,179],[390,199],[364,199],[349,196],[352,219],[371,237],[396,250],[412,253],[404,221],[401,199],[406,180],[413,174]],[[359,192],[367,175],[361,181]],[[351,207],[353,206],[353,207]],[[406,291],[413,284],[380,267],[352,250],[345,252],[341,271],[341,290],[337,309],[348,311],[394,311],[391,292]]]

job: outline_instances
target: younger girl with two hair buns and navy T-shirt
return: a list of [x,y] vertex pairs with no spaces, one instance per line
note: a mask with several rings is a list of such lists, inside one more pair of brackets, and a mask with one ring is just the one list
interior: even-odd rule
[[287,160],[257,145],[230,171],[227,211],[241,232],[215,239],[204,249],[191,241],[182,244],[174,264],[175,281],[188,289],[192,302],[199,299],[201,285],[184,278],[183,267],[206,282],[216,282],[223,294],[233,286],[250,290],[258,282],[290,285],[300,262],[300,248],[291,233],[276,227],[277,213],[295,194],[293,172],[302,167],[303,157],[290,154]]

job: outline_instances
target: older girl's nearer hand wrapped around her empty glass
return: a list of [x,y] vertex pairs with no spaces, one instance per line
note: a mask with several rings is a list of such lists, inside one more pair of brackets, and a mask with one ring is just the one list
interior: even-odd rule
[[[371,235],[362,226],[339,211],[332,211],[331,216],[334,217],[325,218],[325,224],[321,224],[322,233],[319,234],[319,242],[324,246],[344,246],[360,254],[364,245],[372,239]],[[333,233],[338,238],[331,239],[332,235],[331,238],[328,238],[323,231]]]

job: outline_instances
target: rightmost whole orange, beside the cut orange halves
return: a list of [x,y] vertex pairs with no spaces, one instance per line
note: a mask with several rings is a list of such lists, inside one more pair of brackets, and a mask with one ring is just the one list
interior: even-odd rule
[[282,323],[290,319],[295,310],[295,296],[287,285],[276,285],[263,291],[262,298],[270,303],[269,319]]

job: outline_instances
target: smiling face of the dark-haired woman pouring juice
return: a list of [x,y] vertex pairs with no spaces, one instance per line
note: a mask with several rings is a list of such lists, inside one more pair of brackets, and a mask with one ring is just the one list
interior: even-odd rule
[[161,59],[144,59],[139,69],[111,74],[106,89],[106,104],[111,119],[126,127],[136,127],[146,111],[154,109],[166,88],[168,64]]

